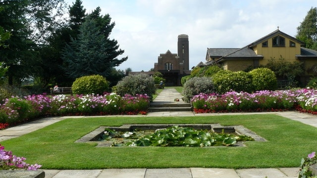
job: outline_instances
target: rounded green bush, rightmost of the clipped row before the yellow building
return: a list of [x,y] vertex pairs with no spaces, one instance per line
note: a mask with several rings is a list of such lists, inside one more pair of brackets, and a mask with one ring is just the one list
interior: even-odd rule
[[249,72],[252,75],[252,85],[255,90],[277,89],[275,73],[268,68],[257,68]]

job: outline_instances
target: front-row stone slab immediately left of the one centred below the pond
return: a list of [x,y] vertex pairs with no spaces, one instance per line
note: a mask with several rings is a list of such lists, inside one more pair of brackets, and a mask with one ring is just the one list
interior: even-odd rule
[[144,178],[147,169],[105,169],[99,178]]

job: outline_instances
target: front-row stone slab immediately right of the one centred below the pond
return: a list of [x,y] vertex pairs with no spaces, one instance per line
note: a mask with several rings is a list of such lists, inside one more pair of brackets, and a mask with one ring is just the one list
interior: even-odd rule
[[193,178],[240,178],[234,169],[191,168]]

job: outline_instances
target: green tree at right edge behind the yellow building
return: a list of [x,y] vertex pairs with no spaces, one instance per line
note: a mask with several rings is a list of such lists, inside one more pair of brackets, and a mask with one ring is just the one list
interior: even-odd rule
[[307,48],[317,50],[317,7],[312,7],[297,27],[296,39],[304,42]]

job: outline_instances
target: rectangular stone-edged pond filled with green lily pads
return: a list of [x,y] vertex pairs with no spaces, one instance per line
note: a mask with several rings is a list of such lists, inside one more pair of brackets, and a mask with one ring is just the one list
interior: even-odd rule
[[243,126],[219,124],[126,124],[102,126],[76,142],[97,147],[120,146],[243,146],[244,141],[266,141]]

